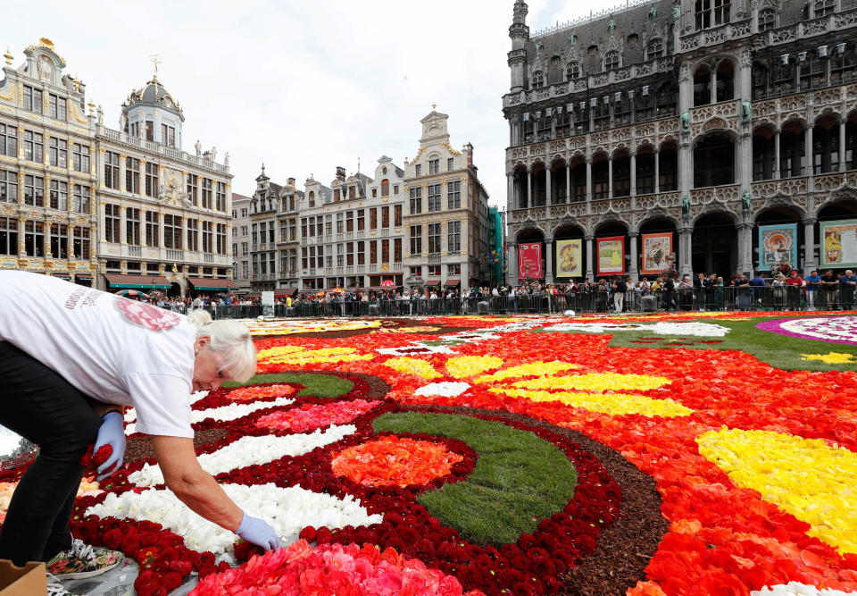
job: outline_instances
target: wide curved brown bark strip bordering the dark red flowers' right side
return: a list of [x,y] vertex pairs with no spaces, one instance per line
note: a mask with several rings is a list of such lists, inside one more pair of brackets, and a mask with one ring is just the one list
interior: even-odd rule
[[[425,409],[425,407],[417,407]],[[403,409],[409,409],[403,407]],[[563,594],[571,596],[604,596],[624,594],[638,581],[645,581],[645,567],[658,550],[669,524],[661,516],[661,494],[652,476],[641,472],[618,451],[582,432],[548,424],[529,416],[472,407],[433,407],[453,414],[497,416],[515,422],[548,428],[578,443],[594,455],[619,483],[622,490],[621,513],[609,528],[601,533],[595,552],[580,561],[560,579]]]

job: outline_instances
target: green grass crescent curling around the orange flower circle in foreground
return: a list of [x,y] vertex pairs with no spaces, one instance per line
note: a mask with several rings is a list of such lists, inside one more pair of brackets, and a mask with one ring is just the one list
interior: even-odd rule
[[476,544],[501,546],[532,533],[574,496],[578,474],[553,443],[505,424],[448,414],[385,414],[377,432],[424,432],[456,439],[478,453],[470,477],[419,497],[444,525]]

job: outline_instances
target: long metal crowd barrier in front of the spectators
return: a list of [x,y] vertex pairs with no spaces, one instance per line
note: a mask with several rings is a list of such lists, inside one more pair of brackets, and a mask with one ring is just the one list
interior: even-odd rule
[[[295,306],[276,305],[266,311],[262,305],[204,306],[215,319],[277,317],[358,317],[358,316],[430,316],[477,315],[479,303],[487,303],[487,312],[495,315],[547,315],[575,313],[613,313],[615,299],[611,291],[483,298],[437,298],[415,300],[377,300],[371,302],[298,302]],[[797,311],[853,310],[854,292],[810,290],[795,286],[781,287],[710,287],[677,288],[671,294],[625,292],[623,312],[656,311]],[[482,307],[486,308],[486,307]]]

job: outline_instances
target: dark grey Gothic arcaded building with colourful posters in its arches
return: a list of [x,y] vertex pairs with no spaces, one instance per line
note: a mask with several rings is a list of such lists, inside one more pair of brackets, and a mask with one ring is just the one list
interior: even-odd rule
[[857,261],[836,240],[857,230],[852,0],[631,0],[535,34],[527,13],[503,97],[510,283]]

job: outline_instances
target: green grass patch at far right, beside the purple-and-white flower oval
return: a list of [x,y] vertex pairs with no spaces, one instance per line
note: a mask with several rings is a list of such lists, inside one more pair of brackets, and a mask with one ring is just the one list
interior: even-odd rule
[[[783,370],[806,370],[806,371],[857,371],[857,346],[845,343],[832,343],[820,340],[803,340],[801,338],[781,335],[779,333],[764,332],[756,329],[756,323],[769,319],[782,319],[787,316],[777,315],[769,317],[758,317],[744,321],[723,321],[720,319],[700,318],[700,323],[714,323],[728,327],[732,331],[722,338],[685,338],[681,335],[658,335],[651,331],[641,332],[613,332],[610,345],[622,348],[688,348],[688,349],[736,349],[747,354],[752,354],[762,362]],[[802,317],[803,318],[803,317]],[[649,337],[661,337],[663,340],[653,343],[636,343],[634,340],[642,340]],[[693,342],[693,345],[676,345],[678,342]],[[700,340],[721,340],[723,343],[700,343]],[[842,364],[825,364],[820,360],[803,360],[804,354],[851,354],[853,362]]]

